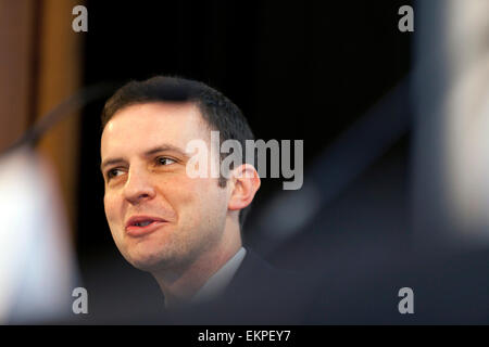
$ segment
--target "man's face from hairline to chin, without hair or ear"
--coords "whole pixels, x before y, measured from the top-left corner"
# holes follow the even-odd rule
[[[147,271],[184,267],[221,240],[229,189],[190,178],[187,143],[210,129],[191,103],[147,103],[118,111],[101,140],[104,206],[122,255]]]

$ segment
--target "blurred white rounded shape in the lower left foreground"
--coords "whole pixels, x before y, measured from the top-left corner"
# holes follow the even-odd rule
[[[68,228],[49,165],[20,149],[0,157],[0,323],[71,313],[77,280]]]

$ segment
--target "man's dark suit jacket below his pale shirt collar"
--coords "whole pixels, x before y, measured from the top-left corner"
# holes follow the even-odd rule
[[[225,292],[178,314],[176,322],[299,324],[305,314],[308,291],[299,274],[274,268],[248,248]]]

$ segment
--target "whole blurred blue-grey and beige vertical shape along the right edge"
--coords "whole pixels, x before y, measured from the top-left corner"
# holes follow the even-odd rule
[[[488,246],[489,2],[417,4],[416,229],[422,239],[438,230],[449,246]]]

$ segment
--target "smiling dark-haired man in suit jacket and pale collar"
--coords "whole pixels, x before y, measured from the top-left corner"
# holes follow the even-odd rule
[[[250,303],[269,291],[265,282],[276,272],[241,241],[260,188],[253,163],[231,166],[228,178],[215,177],[212,165],[223,157],[211,155],[209,163],[204,157],[197,164],[206,166],[208,175],[188,174],[198,155],[189,151],[192,141],[211,152],[211,131],[220,132],[220,141],[239,141],[242,149],[253,139],[233,102],[198,81],[154,77],[122,87],[104,106],[102,127],[104,207],[112,236],[128,262],[155,278],[167,308],[224,294],[234,304]],[[244,292],[255,295],[246,299]]]

